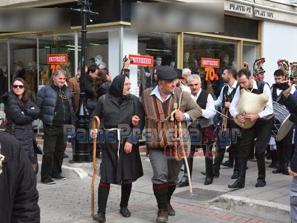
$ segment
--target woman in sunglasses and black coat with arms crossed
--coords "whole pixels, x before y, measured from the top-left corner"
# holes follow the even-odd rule
[[[32,122],[39,117],[40,109],[29,99],[27,83],[22,78],[15,78],[11,92],[2,96],[4,112],[7,118],[5,131],[20,141],[21,147],[31,161],[34,171],[37,168],[37,154],[34,150],[34,130]]]

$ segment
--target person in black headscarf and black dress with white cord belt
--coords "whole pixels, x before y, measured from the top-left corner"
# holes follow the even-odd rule
[[[143,176],[137,135],[142,134],[145,113],[138,97],[129,94],[130,89],[128,76],[116,76],[110,85],[109,93],[99,98],[93,113],[93,116],[100,118],[100,127],[104,126],[104,137],[100,135],[99,139],[102,148],[99,211],[93,217],[98,222],[105,222],[110,183],[122,185],[120,213],[124,217],[131,216],[127,206],[132,182]]]

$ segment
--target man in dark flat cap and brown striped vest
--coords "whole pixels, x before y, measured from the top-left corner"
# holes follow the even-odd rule
[[[143,103],[147,119],[147,147],[153,169],[151,181],[159,209],[156,222],[166,223],[168,215],[175,215],[170,199],[176,188],[182,165],[182,162],[173,156],[174,121],[170,121],[170,114],[174,111],[174,104],[178,104],[179,111],[175,114],[175,119],[182,122],[183,142],[187,152],[190,151],[190,136],[186,121],[195,120],[202,111],[196,103],[193,103],[188,92],[182,93],[181,88],[176,87],[178,75],[174,69],[169,66],[158,66],[156,73],[157,86],[144,90]]]

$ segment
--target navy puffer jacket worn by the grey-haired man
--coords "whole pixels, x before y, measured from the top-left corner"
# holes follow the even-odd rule
[[[58,98],[58,94],[55,88],[56,87],[53,85],[53,83],[51,83],[49,85],[44,86],[36,94],[35,103],[41,110],[40,119],[44,124],[52,125],[52,120],[55,115],[56,101]],[[71,114],[71,106],[72,106],[71,92],[65,85],[61,88],[61,90],[63,90],[67,96],[67,100],[68,100],[67,111],[69,112],[69,114]],[[71,118],[69,120],[69,123],[67,124],[71,124]]]

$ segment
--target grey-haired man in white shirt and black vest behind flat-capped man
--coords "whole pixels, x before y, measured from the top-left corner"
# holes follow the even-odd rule
[[[197,102],[202,109],[201,118],[196,119],[190,126],[189,132],[191,136],[191,152],[188,159],[190,168],[190,174],[193,170],[193,156],[196,152],[196,148],[203,149],[205,156],[205,170],[206,178],[204,185],[211,184],[213,181],[213,157],[212,146],[215,140],[213,117],[215,115],[214,102],[211,94],[201,89],[201,79],[199,75],[193,74],[188,77],[188,83],[191,88],[191,97]],[[188,174],[185,170],[185,174],[178,182],[177,186],[189,185]]]

